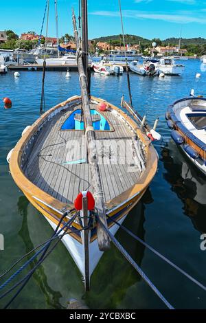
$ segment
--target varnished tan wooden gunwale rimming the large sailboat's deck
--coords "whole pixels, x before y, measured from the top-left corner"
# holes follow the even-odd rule
[[[16,146],[14,147],[14,151],[12,152],[12,156],[10,159],[10,172],[16,185],[23,191],[23,193],[27,197],[30,196],[30,201],[33,201],[34,199],[32,199],[32,197],[35,196],[36,198],[45,201],[45,203],[51,205],[52,208],[56,208],[57,210],[73,210],[73,204],[62,203],[61,201],[47,194],[46,192],[41,190],[41,188],[38,188],[38,186],[32,183],[32,181],[30,181],[30,179],[26,177],[25,173],[21,168],[21,158],[23,156],[25,146],[28,144],[28,142],[30,142],[30,140],[32,140],[32,136],[34,136],[41,129],[43,124],[45,124],[47,118],[49,118],[49,116],[52,115],[52,113],[56,114],[58,113],[58,110],[64,109],[67,104],[72,104],[74,102],[78,102],[79,100],[81,100],[80,96],[73,96],[68,100],[56,105],[55,107],[52,107],[52,109],[49,109],[40,118],[38,118],[36,122],[34,122],[34,124],[30,127],[30,129],[26,131],[26,133],[21,137],[19,142],[17,142]],[[106,102],[103,99],[91,97],[91,103],[93,101]],[[135,133],[137,133],[141,142],[144,143],[148,162],[144,174],[140,177],[137,183],[131,186],[128,190],[122,192],[122,194],[119,194],[119,196],[115,197],[111,201],[105,202],[106,209],[110,210],[112,208],[117,207],[117,205],[121,204],[123,201],[132,199],[132,197],[137,192],[141,193],[149,186],[150,182],[152,181],[153,177],[157,172],[158,155],[155,151],[155,148],[151,145],[151,142],[146,136],[146,134],[142,133],[141,130],[137,128],[136,122],[121,109],[115,107],[109,102],[106,103],[108,104],[108,107],[111,107],[111,109],[117,111],[117,113],[119,113],[122,116],[122,118],[124,118],[126,122],[134,129]],[[45,208],[45,205],[43,205],[43,208]],[[51,212],[52,209],[49,210]],[[54,210],[52,210],[52,212],[54,212],[56,216],[60,216],[58,212],[55,212]]]

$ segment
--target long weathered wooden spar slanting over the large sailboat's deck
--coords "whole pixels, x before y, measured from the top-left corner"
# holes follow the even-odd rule
[[[82,43],[84,42],[84,49],[87,51],[87,32],[85,32],[85,27],[87,28],[87,22],[85,23],[85,13],[87,12],[85,7],[87,6],[87,0],[82,0],[84,2],[84,5],[82,6],[82,12],[84,16],[82,16],[82,36],[84,36],[84,39],[82,37]],[[83,23],[84,19],[84,23]],[[78,28],[76,23],[76,16],[73,11],[73,30],[74,35],[76,38],[76,47],[78,49],[78,70],[80,74],[80,87],[81,87],[81,96],[82,96],[82,109],[84,111],[84,127],[85,127],[85,135],[87,139],[87,147],[88,147],[88,161],[89,161],[89,169],[91,172],[91,181],[92,186],[94,190],[95,197],[95,208],[98,213],[98,219],[100,222],[104,223],[104,225],[107,227],[107,221],[106,221],[106,212],[104,207],[104,197],[103,197],[103,188],[102,188],[102,181],[100,177],[100,168],[98,165],[98,153],[97,153],[97,147],[95,144],[95,130],[93,129],[93,122],[91,118],[91,110],[89,105],[89,95],[87,91],[87,74],[85,74],[85,66],[84,61],[85,58],[82,58],[82,51],[80,49],[80,41],[79,41],[79,35],[78,35]],[[110,239],[108,237],[108,234],[104,231],[102,228],[100,222],[97,223],[97,234],[98,234],[98,245],[100,251],[104,252],[107,249],[110,248]]]

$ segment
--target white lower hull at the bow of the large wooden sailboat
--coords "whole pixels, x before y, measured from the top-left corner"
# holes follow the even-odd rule
[[[122,224],[124,219],[126,219],[127,214],[119,221],[119,224]],[[47,217],[45,217],[47,219]],[[47,219],[49,224],[52,226],[54,230],[56,230],[56,225]],[[113,225],[111,227],[111,234],[115,235],[117,230],[119,229],[118,225]],[[85,278],[85,269],[84,269],[84,245],[76,241],[76,239],[72,238],[69,234],[65,235],[62,238],[62,243],[64,243],[65,247],[71,254],[74,262],[76,263],[80,273]],[[95,267],[98,265],[100,258],[103,256],[104,252],[100,252],[98,247],[98,240],[95,239],[92,243],[89,244],[89,274],[93,273]]]

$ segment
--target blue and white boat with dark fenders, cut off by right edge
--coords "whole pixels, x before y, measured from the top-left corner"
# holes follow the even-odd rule
[[[172,139],[193,164],[206,175],[206,99],[183,98],[165,115]]]

